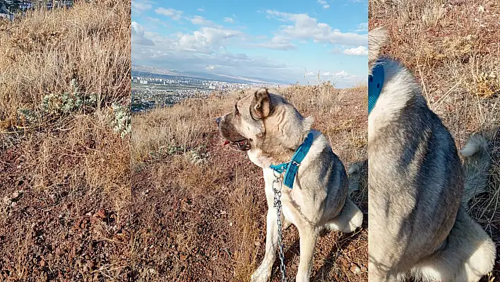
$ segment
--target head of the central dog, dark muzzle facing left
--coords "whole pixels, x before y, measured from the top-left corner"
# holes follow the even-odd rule
[[[281,95],[267,88],[252,91],[234,103],[232,112],[218,117],[220,135],[241,151],[259,148],[280,154],[295,150],[311,129],[313,119],[304,118]]]

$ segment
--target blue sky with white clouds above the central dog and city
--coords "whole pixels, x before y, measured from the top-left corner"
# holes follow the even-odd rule
[[[132,63],[348,87],[366,81],[367,17],[367,0],[132,0]]]

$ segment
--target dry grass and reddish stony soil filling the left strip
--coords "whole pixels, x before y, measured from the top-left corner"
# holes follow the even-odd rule
[[[0,280],[126,279],[130,28],[121,0],[0,20]]]

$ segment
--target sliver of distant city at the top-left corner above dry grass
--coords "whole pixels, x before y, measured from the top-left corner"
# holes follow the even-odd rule
[[[0,0],[0,18],[14,20],[16,16],[24,16],[26,11],[35,8],[69,8],[73,6],[73,0]]]

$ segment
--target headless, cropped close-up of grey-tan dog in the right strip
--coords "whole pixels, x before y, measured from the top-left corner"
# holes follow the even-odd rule
[[[369,71],[381,65],[384,77],[368,117],[369,281],[479,281],[495,245],[460,202],[486,185],[488,143],[469,139],[464,169],[414,76],[380,56],[387,38],[384,28],[369,32]]]

